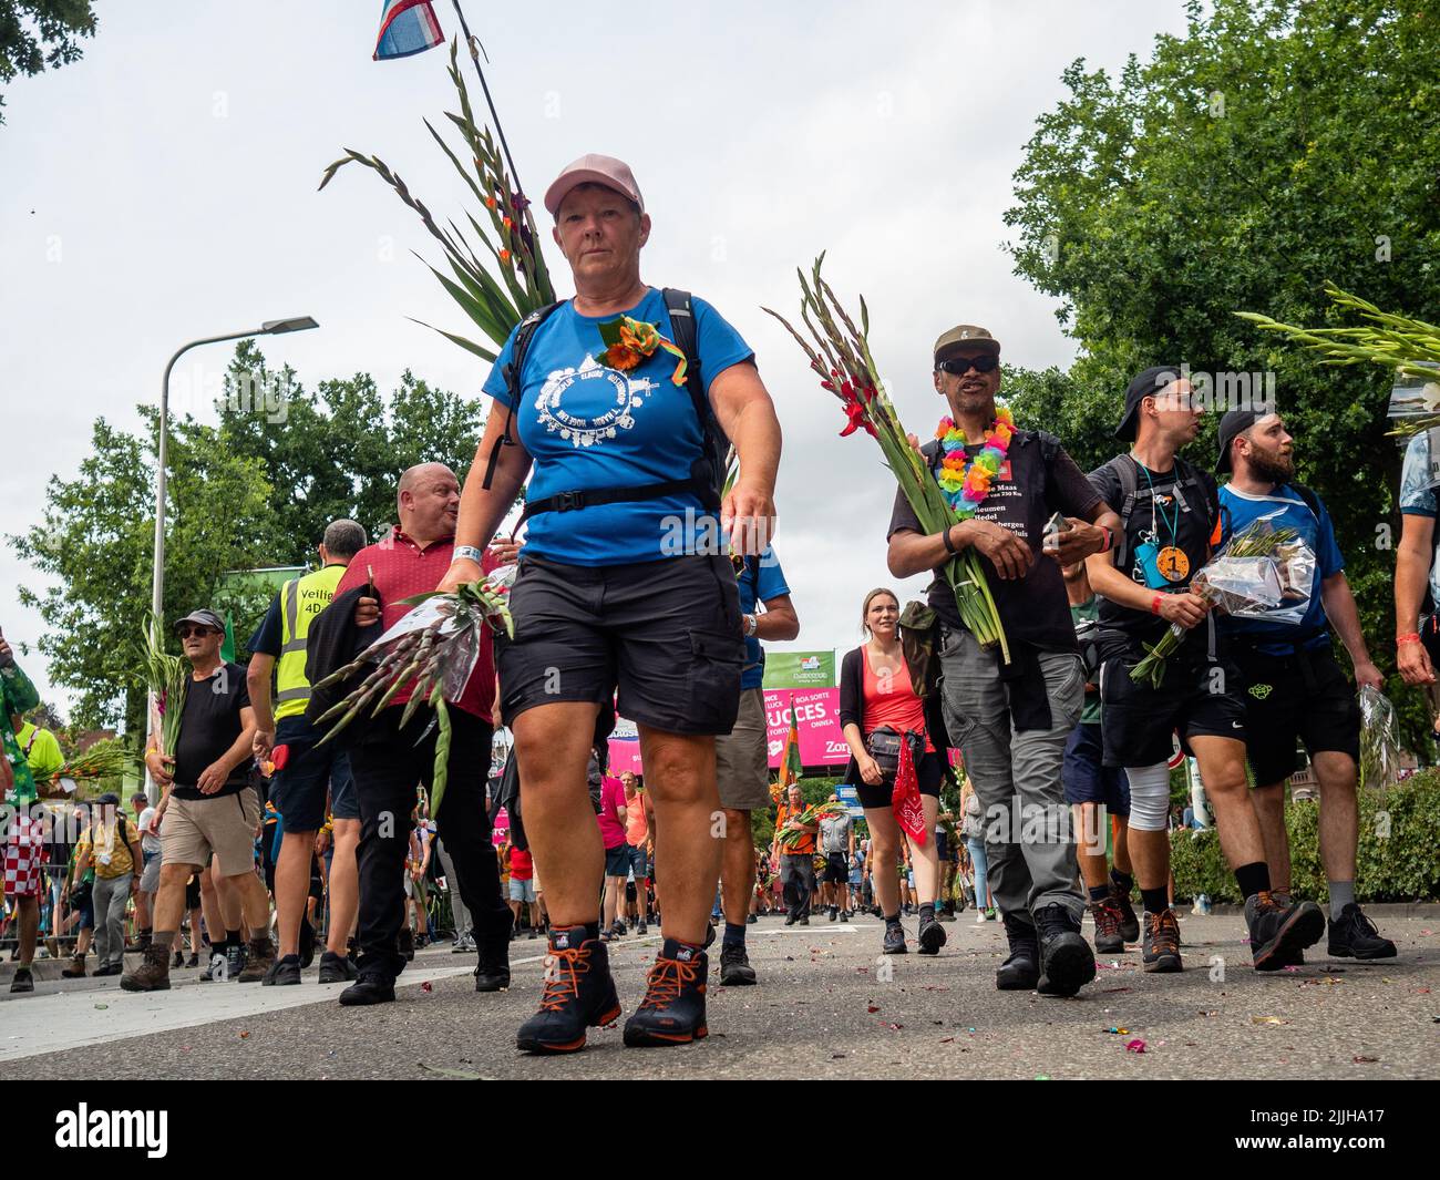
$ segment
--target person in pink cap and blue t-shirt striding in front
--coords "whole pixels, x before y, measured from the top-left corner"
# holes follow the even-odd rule
[[[780,428],[753,350],[720,313],[641,281],[651,219],[629,166],[585,156],[544,205],[576,294],[517,327],[485,382],[497,405],[439,588],[480,576],[480,547],[533,470],[514,638],[497,643],[497,664],[553,967],[517,1043],[575,1052],[621,1013],[599,938],[603,847],[585,774],[618,696],[639,728],[665,893],[664,941],[625,1043],[684,1045],[707,1034],[716,736],[736,723],[755,631],[730,553],[766,547]],[[740,461],[724,494],[721,439]]]

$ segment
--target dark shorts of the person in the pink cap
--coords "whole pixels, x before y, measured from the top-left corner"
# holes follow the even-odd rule
[[[579,566],[521,555],[510,612],[514,638],[495,641],[508,723],[562,700],[603,715],[619,690],[621,715],[652,729],[734,728],[744,638],[729,558]]]

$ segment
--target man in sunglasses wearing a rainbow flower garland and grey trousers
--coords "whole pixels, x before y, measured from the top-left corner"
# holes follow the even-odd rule
[[[935,390],[949,416],[922,448],[932,471],[946,458],[960,458],[969,470],[996,425],[999,380],[999,341],[985,328],[959,324],[935,341]],[[1056,513],[1064,529],[1047,527]],[[890,572],[936,573],[929,602],[940,617],[945,725],[985,808],[991,892],[1011,951],[995,984],[1007,991],[1038,987],[1045,996],[1074,996],[1094,978],[1094,954],[1080,935],[1084,899],[1076,889],[1061,791],[1086,676],[1060,571],[1109,547],[1119,523],[1060,439],[1031,429],[1015,429],[969,519],[926,535],[903,493],[890,517]],[[981,555],[1009,664],[965,630],[943,576],[968,546]]]

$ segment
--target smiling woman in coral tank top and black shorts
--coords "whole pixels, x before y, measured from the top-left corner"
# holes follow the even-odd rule
[[[884,952],[906,952],[904,928],[900,925],[899,879],[893,870],[901,854],[901,839],[909,841],[914,866],[914,886],[920,903],[920,954],[939,954],[945,928],[935,918],[940,888],[940,862],[935,840],[916,843],[903,833],[891,810],[894,774],[884,774],[870,755],[870,736],[881,726],[899,733],[926,733],[924,755],[916,761],[916,778],[924,808],[924,828],[935,831],[940,810],[943,762],[930,743],[924,723],[924,700],[916,696],[900,647],[900,599],[888,589],[873,589],[861,608],[861,628],[868,641],[845,654],[840,667],[840,723],[850,745],[845,782],[855,785],[873,840],[876,902],[886,919]]]

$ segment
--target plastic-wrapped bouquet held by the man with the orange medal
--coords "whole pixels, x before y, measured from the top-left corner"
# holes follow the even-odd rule
[[[1189,592],[1234,618],[1299,622],[1310,604],[1315,553],[1295,529],[1276,529],[1263,516],[1227,540],[1189,581]],[[1185,630],[1172,622],[1161,641],[1145,644],[1145,658],[1130,679],[1159,687],[1165,661],[1179,648]]]

